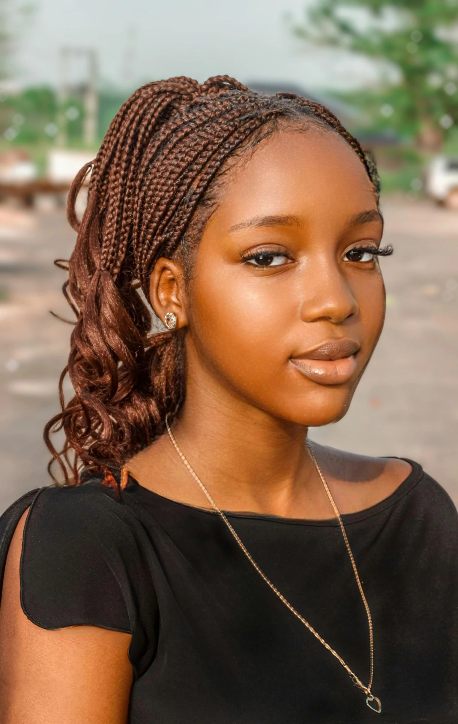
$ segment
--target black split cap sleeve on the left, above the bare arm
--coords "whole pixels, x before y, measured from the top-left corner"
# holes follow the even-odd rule
[[[140,522],[100,482],[43,488],[25,522],[22,610],[41,628],[132,633],[129,656],[139,675],[152,660],[157,623],[144,544]]]

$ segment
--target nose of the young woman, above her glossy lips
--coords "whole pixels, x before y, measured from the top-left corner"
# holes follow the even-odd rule
[[[326,320],[342,324],[359,311],[349,280],[342,274],[335,258],[309,260],[302,289],[303,321]]]

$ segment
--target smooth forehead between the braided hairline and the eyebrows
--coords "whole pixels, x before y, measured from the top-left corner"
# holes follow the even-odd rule
[[[248,151],[232,169],[219,194],[214,222],[235,224],[255,215],[348,218],[376,209],[365,167],[335,132],[276,132]]]

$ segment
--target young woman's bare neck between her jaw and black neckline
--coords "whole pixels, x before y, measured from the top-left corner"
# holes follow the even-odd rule
[[[289,515],[316,484],[307,428],[214,387],[188,384],[173,426],[180,449],[221,508]]]

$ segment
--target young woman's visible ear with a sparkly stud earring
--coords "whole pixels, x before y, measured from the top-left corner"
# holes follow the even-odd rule
[[[150,276],[150,302],[164,324],[166,313],[173,312],[177,329],[186,327],[185,280],[180,264],[162,256],[156,261]]]

